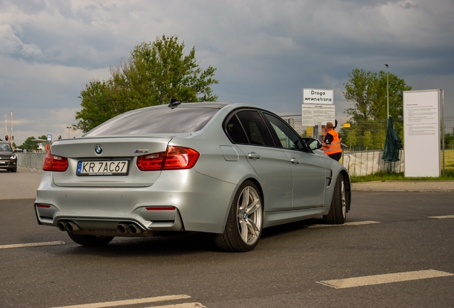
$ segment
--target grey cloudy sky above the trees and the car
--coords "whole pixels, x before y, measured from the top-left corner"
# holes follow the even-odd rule
[[[343,121],[348,73],[388,63],[454,116],[453,16],[453,0],[0,0],[0,119],[17,145],[81,135],[66,127],[85,84],[163,34],[217,68],[219,101],[301,114],[303,88],[328,88]]]

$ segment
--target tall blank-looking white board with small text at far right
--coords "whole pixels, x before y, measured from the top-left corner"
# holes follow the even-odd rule
[[[440,91],[403,92],[405,177],[440,176]]]

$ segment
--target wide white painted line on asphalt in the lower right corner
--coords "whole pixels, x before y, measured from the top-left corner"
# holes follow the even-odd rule
[[[353,277],[345,279],[334,279],[317,282],[334,289],[345,289],[350,287],[362,287],[371,284],[385,284],[390,282],[404,282],[410,280],[427,279],[435,277],[454,276],[448,272],[438,270],[422,270],[415,272],[400,272],[395,274],[379,274],[373,276]]]

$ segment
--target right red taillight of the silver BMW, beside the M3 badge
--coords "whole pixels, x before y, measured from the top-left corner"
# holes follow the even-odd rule
[[[138,156],[136,164],[141,171],[190,169],[199,157],[191,148],[168,146],[166,152]]]

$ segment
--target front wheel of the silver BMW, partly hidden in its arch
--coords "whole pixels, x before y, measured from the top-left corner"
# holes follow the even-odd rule
[[[343,175],[339,173],[334,187],[333,200],[331,201],[330,212],[323,215],[323,222],[328,225],[342,225],[347,217],[347,198]]]

